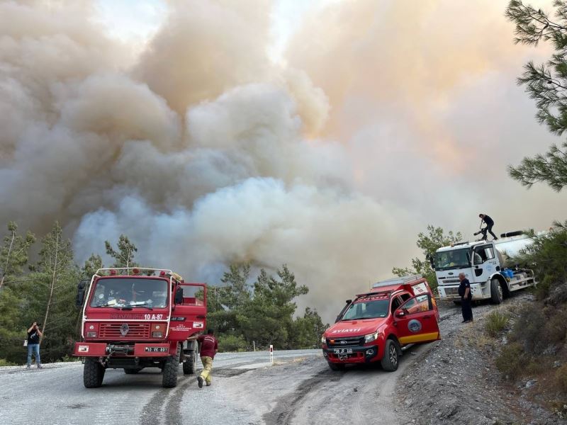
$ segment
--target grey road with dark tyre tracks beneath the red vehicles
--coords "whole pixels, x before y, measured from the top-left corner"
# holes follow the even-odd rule
[[[460,324],[460,309],[440,312],[444,336]],[[91,390],[83,387],[81,363],[0,368],[0,424],[317,425],[378,417],[406,424],[408,409],[395,398],[405,385],[400,378],[431,348],[410,347],[394,373],[376,366],[332,372],[320,350],[276,351],[274,365],[266,352],[220,353],[213,385],[203,389],[181,368],[173,389],[162,388],[159,370],[148,368],[137,375],[107,370],[103,386]]]

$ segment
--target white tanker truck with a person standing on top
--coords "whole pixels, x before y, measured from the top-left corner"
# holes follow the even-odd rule
[[[515,256],[533,239],[523,232],[509,232],[495,241],[461,242],[437,249],[431,259],[439,297],[459,302],[459,273],[471,283],[473,300],[500,304],[512,291],[537,285],[529,268],[506,268],[505,256]]]

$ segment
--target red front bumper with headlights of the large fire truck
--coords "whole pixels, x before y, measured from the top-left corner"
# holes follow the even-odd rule
[[[137,342],[131,344],[108,344],[106,342],[76,342],[73,356],[106,357],[166,357],[169,356],[169,344]]]

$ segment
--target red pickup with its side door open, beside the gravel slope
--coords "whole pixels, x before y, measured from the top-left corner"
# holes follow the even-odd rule
[[[439,312],[421,276],[384,280],[371,292],[347,300],[337,321],[322,335],[322,351],[332,370],[349,363],[381,362],[396,370],[402,348],[439,339]]]

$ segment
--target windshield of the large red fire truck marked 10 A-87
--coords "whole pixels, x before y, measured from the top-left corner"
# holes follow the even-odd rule
[[[103,278],[95,285],[91,307],[167,307],[167,280]]]

